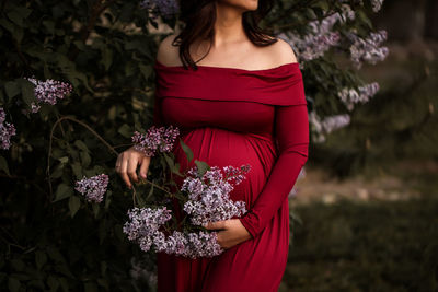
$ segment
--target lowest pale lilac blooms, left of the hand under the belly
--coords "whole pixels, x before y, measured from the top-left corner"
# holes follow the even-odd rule
[[[216,232],[173,231],[171,235],[165,236],[159,229],[172,218],[171,210],[166,207],[158,209],[136,207],[128,211],[128,215],[130,221],[125,223],[123,232],[130,241],[138,243],[143,252],[153,246],[155,252],[191,258],[212,257],[223,252],[217,242]]]

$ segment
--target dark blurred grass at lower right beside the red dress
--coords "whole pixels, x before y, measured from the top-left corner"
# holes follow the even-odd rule
[[[438,199],[295,209],[279,291],[438,291]]]

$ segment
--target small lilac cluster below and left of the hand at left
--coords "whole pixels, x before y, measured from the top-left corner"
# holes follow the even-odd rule
[[[107,186],[108,175],[101,174],[90,178],[84,176],[81,180],[76,182],[74,189],[85,196],[89,202],[101,202]]]

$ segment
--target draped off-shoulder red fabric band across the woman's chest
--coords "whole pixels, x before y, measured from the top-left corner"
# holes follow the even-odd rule
[[[249,70],[198,65],[165,66],[155,60],[157,95],[160,98],[253,102],[266,105],[306,104],[302,73],[298,62]]]

